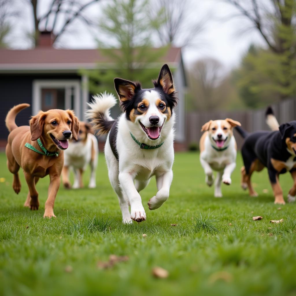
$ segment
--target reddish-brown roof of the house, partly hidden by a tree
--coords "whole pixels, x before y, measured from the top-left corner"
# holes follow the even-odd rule
[[[157,49],[152,49],[157,50]],[[159,61],[174,64],[181,59],[181,49],[171,47]],[[94,68],[97,63],[110,64],[110,58],[97,49],[0,50],[0,70],[79,69]]]

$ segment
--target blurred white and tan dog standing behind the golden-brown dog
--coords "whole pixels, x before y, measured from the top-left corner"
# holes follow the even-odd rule
[[[89,188],[96,187],[96,167],[98,164],[98,140],[93,135],[89,123],[80,121],[78,139],[69,142],[67,153],[64,154],[64,167],[62,170],[62,181],[65,188],[70,188],[69,169],[74,170],[73,188],[83,187],[83,172],[90,165],[91,176],[89,179]],[[66,150],[65,150],[66,151]]]

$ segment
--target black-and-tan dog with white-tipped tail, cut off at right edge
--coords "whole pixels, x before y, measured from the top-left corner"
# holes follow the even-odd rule
[[[296,195],[296,121],[278,126],[271,108],[268,108],[266,116],[269,127],[273,130],[278,127],[278,130],[247,133],[241,127],[235,127],[245,139],[242,147],[242,188],[248,188],[251,196],[257,196],[251,185],[251,175],[266,167],[274,192],[274,203],[285,204],[279,175],[289,171],[294,185],[289,191],[288,202],[293,202]]]

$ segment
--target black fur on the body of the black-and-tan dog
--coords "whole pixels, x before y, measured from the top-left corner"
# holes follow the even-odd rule
[[[284,123],[279,127],[279,131],[256,131],[247,133],[242,128],[236,127],[237,131],[243,136],[246,134],[242,146],[242,158],[246,173],[249,174],[250,167],[256,159],[267,167],[268,176],[271,183],[276,183],[276,176],[286,173],[286,169],[277,172],[271,163],[271,159],[286,162],[291,154],[287,151],[286,139],[296,143],[296,121]],[[296,157],[295,157],[296,159]],[[293,170],[293,169],[292,169]]]

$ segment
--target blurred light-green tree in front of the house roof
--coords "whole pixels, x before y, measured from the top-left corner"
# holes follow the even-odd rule
[[[113,0],[104,8],[99,22],[99,50],[112,66],[100,64],[98,70],[82,71],[89,76],[92,93],[114,92],[115,77],[152,86],[151,78],[157,77],[159,59],[167,47],[152,48],[154,21],[148,17],[148,10],[148,0]],[[151,66],[153,63],[155,66]]]

